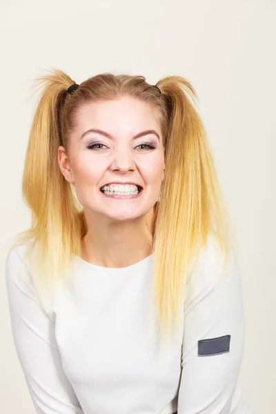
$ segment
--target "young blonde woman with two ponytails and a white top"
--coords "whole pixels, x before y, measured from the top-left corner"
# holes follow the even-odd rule
[[[78,85],[61,70],[37,81],[32,225],[6,259],[37,413],[250,413],[242,280],[193,86],[111,73]]]

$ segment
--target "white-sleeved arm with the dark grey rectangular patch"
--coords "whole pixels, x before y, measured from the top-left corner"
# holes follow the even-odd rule
[[[244,351],[244,308],[232,249],[224,276],[222,270],[218,246],[209,240],[187,290],[178,414],[233,412]]]

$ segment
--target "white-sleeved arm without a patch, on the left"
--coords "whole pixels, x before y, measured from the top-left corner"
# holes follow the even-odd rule
[[[21,249],[8,254],[5,275],[14,345],[32,402],[38,414],[83,414],[63,372],[55,322],[37,305],[31,279],[23,280]]]

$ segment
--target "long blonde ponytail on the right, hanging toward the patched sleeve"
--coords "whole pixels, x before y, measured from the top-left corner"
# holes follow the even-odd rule
[[[195,107],[193,86],[180,76],[157,82],[169,113],[166,169],[155,223],[154,286],[157,317],[168,337],[181,327],[186,286],[196,257],[211,238],[219,242],[224,270],[235,244],[208,138]]]

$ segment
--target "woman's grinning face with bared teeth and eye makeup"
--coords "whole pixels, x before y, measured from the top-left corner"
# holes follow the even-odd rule
[[[161,128],[152,106],[132,97],[86,103],[77,112],[68,154],[59,147],[58,161],[89,214],[112,221],[146,215],[158,199],[165,168]],[[101,192],[108,183],[128,181],[141,186],[141,193],[110,197]]]

